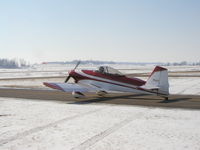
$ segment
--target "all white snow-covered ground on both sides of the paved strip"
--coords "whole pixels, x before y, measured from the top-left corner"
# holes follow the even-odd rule
[[[150,73],[154,68],[111,66],[128,74]],[[44,81],[63,82],[73,67],[0,69],[0,87],[44,89]],[[81,65],[79,69],[96,67]],[[199,68],[167,68],[186,75],[169,78],[170,93],[200,94]],[[199,150],[199,116],[199,110],[0,98],[0,150]]]

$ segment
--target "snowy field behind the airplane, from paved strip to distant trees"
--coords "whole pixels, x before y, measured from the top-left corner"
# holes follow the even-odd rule
[[[124,74],[147,80],[154,65],[109,65]],[[78,69],[95,69],[95,65],[80,65]],[[64,82],[74,65],[35,65],[25,69],[0,69],[0,87],[45,89],[43,82]],[[200,95],[200,67],[168,66],[171,94]],[[146,76],[143,76],[146,75]]]

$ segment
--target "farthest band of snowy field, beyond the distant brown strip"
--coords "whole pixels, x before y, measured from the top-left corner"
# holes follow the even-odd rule
[[[0,69],[0,79],[26,77],[65,76],[75,65],[41,64],[24,69]],[[119,69],[124,74],[151,73],[155,65],[108,65]],[[96,69],[99,65],[80,65],[78,69]],[[200,67],[197,66],[166,66],[169,72],[186,72],[185,75],[200,76]],[[187,73],[189,72],[189,74]]]

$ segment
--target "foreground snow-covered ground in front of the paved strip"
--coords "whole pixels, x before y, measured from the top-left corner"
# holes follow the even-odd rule
[[[1,150],[199,150],[200,111],[0,98]]]

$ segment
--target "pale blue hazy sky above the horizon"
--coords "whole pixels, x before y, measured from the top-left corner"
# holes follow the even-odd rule
[[[200,61],[200,1],[2,0],[0,58]]]

